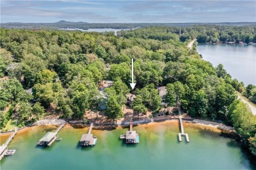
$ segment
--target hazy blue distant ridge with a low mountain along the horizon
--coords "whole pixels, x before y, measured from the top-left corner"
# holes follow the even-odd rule
[[[170,26],[170,27],[188,27],[190,25],[256,25],[256,22],[221,22],[221,23],[88,23],[88,22],[67,22],[60,20],[55,23],[21,23],[21,22],[9,22],[2,23],[0,27],[10,29],[35,29],[35,28],[114,28],[114,29],[133,29],[136,27],[148,27],[148,26]]]

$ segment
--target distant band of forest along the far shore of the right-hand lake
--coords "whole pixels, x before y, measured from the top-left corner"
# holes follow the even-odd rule
[[[190,25],[188,27],[147,27],[133,31],[122,30],[122,37],[139,37],[164,41],[171,39],[171,33],[179,35],[182,42],[197,39],[198,43],[256,43],[256,25],[226,26],[226,25]]]

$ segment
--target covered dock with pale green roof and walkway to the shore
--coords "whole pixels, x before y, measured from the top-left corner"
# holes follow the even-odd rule
[[[39,146],[43,146],[45,145],[45,143],[47,144],[47,146],[51,146],[51,144],[54,143],[54,141],[56,141],[56,139],[58,139],[58,132],[60,131],[60,129],[62,129],[62,127],[64,127],[66,123],[61,124],[58,129],[56,129],[56,131],[54,132],[47,132],[40,140],[39,143],[37,143],[37,145]]]

